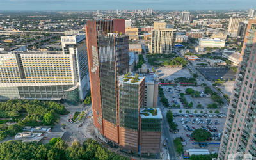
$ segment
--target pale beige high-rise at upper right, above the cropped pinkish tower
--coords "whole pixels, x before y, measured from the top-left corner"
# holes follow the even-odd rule
[[[246,20],[246,17],[230,17],[228,24],[228,33],[230,33],[232,37],[237,36],[239,23],[244,22],[244,20]]]

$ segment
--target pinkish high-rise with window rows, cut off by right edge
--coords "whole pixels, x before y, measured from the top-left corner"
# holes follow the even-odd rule
[[[218,159],[241,152],[256,159],[256,19],[250,19],[237,69],[234,90],[220,144]],[[240,157],[243,159],[243,157]]]

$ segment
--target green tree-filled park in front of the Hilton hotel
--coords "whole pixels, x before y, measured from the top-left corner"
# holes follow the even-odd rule
[[[24,126],[53,126],[67,109],[58,102],[40,100],[8,100],[0,103],[0,140],[23,132]]]

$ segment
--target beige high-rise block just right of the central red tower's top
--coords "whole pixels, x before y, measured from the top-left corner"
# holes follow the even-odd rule
[[[165,23],[154,22],[151,44],[148,45],[150,53],[170,54],[173,52],[176,30],[166,28],[166,26],[168,25]]]

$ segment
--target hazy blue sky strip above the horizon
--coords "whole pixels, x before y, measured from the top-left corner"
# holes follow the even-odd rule
[[[256,0],[0,0],[0,10],[246,10]]]

